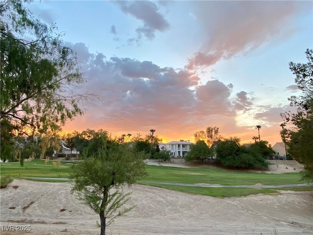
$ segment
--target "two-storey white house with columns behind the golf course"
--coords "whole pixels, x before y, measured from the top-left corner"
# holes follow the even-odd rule
[[[190,141],[171,141],[168,143],[160,143],[159,148],[164,147],[166,150],[171,151],[172,158],[184,158],[190,151]]]

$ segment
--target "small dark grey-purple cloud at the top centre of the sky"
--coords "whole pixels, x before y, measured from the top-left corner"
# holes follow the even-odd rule
[[[156,31],[164,32],[170,26],[159,12],[156,3],[152,1],[116,1],[115,3],[120,6],[125,14],[130,14],[143,22],[143,25],[135,30],[137,41],[142,37],[153,40]]]

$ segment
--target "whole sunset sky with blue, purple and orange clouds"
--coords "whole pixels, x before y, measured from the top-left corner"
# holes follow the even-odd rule
[[[163,142],[207,126],[224,137],[281,142],[280,113],[300,94],[289,62],[313,47],[313,1],[35,1],[56,23],[98,95],[65,132],[150,129]]]

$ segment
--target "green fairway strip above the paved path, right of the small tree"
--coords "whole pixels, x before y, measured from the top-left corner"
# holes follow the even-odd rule
[[[269,174],[230,171],[217,168],[178,168],[147,165],[149,176],[140,181],[220,185],[291,185],[302,184],[299,173]]]

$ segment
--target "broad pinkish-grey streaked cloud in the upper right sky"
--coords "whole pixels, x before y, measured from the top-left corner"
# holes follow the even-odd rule
[[[273,37],[287,37],[296,28],[293,17],[312,8],[310,2],[295,1],[197,1],[192,6],[205,38],[189,58],[193,69],[246,54]]]

